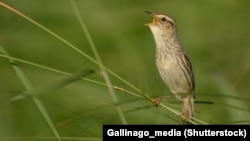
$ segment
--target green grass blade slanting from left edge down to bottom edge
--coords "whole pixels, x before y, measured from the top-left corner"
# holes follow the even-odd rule
[[[0,46],[0,52],[7,55],[8,53],[5,51],[5,49],[3,47]],[[14,60],[10,59],[10,63],[12,64],[15,72],[17,73],[18,78],[20,79],[20,81],[22,82],[22,84],[24,85],[24,87],[27,90],[31,90],[33,89],[33,86],[31,84],[31,82],[29,81],[29,79],[26,77],[26,75],[24,74],[24,72],[20,69],[20,67],[16,64],[16,62]],[[61,141],[61,137],[59,135],[59,133],[57,132],[53,122],[51,121],[42,101],[39,99],[38,96],[31,96],[32,100],[34,101],[35,105],[37,106],[37,108],[40,110],[40,112],[42,113],[43,117],[45,118],[45,120],[47,121],[48,125],[50,126],[51,130],[53,131],[55,137],[57,138],[57,140]]]

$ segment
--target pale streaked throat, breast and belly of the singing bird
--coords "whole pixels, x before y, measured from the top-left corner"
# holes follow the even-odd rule
[[[190,63],[177,38],[168,38],[157,26],[150,26],[156,42],[156,65],[160,76],[178,99],[192,95]],[[160,37],[160,38],[159,38]],[[180,65],[182,64],[182,65]],[[191,65],[191,63],[190,63]]]

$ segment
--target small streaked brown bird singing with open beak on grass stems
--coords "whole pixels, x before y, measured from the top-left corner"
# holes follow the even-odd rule
[[[153,19],[145,26],[150,28],[155,41],[157,69],[171,93],[182,101],[181,118],[188,124],[190,117],[194,117],[195,80],[191,62],[177,38],[176,21],[168,15],[145,12]]]

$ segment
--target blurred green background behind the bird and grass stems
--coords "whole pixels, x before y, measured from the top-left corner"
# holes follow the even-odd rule
[[[5,4],[52,30],[94,58],[69,0],[4,0]],[[175,18],[178,37],[195,73],[196,118],[208,124],[250,123],[250,9],[248,1],[76,0],[104,65],[163,103],[181,104],[161,80],[155,44],[145,10]],[[0,45],[10,56],[74,73],[99,66],[17,14],[0,7]],[[17,62],[18,63],[18,62]],[[18,63],[34,87],[65,75]],[[0,137],[54,136],[30,98],[10,101],[25,91],[9,60],[0,57]],[[113,85],[130,87],[109,75]],[[104,82],[99,73],[89,79]],[[115,91],[128,124],[181,124],[177,115],[148,100]],[[65,137],[101,137],[102,124],[122,124],[106,87],[79,80],[40,96]],[[2,138],[6,139],[6,138]],[[10,138],[9,138],[10,140]],[[17,140],[17,139],[14,139]],[[21,139],[20,139],[21,140]]]

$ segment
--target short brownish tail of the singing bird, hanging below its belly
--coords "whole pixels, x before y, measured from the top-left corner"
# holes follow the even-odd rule
[[[194,116],[194,96],[188,95],[187,97],[182,99],[183,107],[182,112],[184,117],[186,118],[184,122],[187,122],[189,117]]]

